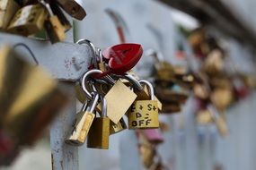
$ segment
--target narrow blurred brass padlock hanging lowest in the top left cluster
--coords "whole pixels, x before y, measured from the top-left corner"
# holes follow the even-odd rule
[[[52,12],[48,3],[44,0],[40,0],[40,4],[45,6],[49,13],[49,18],[45,21],[44,28],[47,31],[50,42],[54,44],[63,41],[66,38],[64,26],[58,20],[57,15]]]

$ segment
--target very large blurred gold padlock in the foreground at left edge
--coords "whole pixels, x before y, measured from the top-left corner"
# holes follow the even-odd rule
[[[0,114],[0,124],[13,140],[32,144],[64,106],[67,97],[57,81],[39,67],[24,62],[10,47],[3,50],[0,50],[0,109],[4,114]]]

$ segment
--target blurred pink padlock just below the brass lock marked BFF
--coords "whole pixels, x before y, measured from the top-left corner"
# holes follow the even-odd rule
[[[160,129],[146,129],[146,130],[139,130],[138,132],[142,133],[152,144],[160,144],[163,143],[163,134]]]

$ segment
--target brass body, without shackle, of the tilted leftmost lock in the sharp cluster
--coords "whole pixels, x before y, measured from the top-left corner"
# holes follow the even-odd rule
[[[88,132],[93,124],[95,115],[91,112],[79,112],[75,115],[75,123],[71,135],[66,139],[70,145],[80,146],[84,144]]]

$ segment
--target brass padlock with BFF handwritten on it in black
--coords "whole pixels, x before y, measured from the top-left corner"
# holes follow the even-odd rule
[[[128,111],[129,129],[154,129],[159,127],[158,106],[154,100],[154,88],[148,81],[139,81],[146,84],[150,90],[151,100],[136,100]]]

